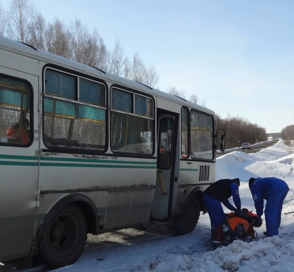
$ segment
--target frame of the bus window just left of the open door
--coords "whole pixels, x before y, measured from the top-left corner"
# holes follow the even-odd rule
[[[147,116],[143,116],[143,115],[139,115],[139,114],[134,114],[134,113],[129,113],[129,112],[125,112],[125,111],[121,111],[121,110],[112,110],[111,109],[111,90],[115,88],[115,89],[119,89],[121,91],[124,91],[124,92],[129,92],[129,93],[133,93],[133,112],[135,111],[135,94],[137,95],[141,95],[143,97],[147,97],[147,98],[151,98],[152,99],[152,103],[153,103],[153,111],[152,111],[152,114],[153,114],[153,117],[147,117]],[[110,150],[113,154],[115,155],[119,155],[119,156],[131,156],[131,157],[136,157],[136,158],[152,158],[154,157],[154,154],[155,154],[155,146],[157,146],[157,144],[155,143],[155,134],[156,134],[156,119],[154,118],[154,116],[156,116],[156,112],[155,112],[155,109],[156,109],[156,105],[155,105],[155,99],[152,95],[149,95],[148,93],[144,93],[142,91],[138,91],[138,90],[135,90],[135,89],[131,89],[131,88],[128,88],[128,87],[124,87],[122,85],[119,85],[119,84],[112,84],[110,86],[110,92],[109,92],[109,116],[110,116],[110,120],[109,120],[109,146],[110,146]],[[152,153],[151,154],[142,154],[142,153],[129,153],[129,152],[117,152],[117,151],[113,151],[112,148],[111,148],[111,111],[113,112],[118,112],[118,113],[122,113],[122,114],[129,114],[129,115],[132,115],[132,116],[136,116],[136,117],[140,117],[140,118],[145,118],[145,119],[149,119],[149,120],[152,120],[153,124],[152,124],[152,129],[153,129],[153,135],[152,135],[152,141],[153,141],[153,146],[152,146]],[[155,156],[156,158],[156,156]]]

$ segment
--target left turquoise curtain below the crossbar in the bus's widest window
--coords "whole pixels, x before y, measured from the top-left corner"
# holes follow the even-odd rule
[[[55,103],[55,114],[59,117],[75,118],[75,104],[57,99],[44,98],[44,113],[53,114]]]

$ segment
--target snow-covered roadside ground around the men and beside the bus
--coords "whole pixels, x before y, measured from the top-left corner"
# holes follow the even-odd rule
[[[213,250],[210,220],[205,214],[190,234],[87,251],[74,265],[56,271],[294,271],[294,154],[289,155],[288,147],[279,141],[257,153],[234,151],[223,155],[216,165],[217,179],[240,178],[242,207],[254,212],[248,188],[250,177],[275,176],[288,183],[290,191],[283,205],[280,237],[265,238],[263,224],[256,229],[257,241],[234,241],[228,247]]]

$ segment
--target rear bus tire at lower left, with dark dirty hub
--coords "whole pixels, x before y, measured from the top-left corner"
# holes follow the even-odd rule
[[[49,215],[39,243],[41,261],[52,268],[73,264],[87,240],[87,224],[81,209],[67,204]]]

